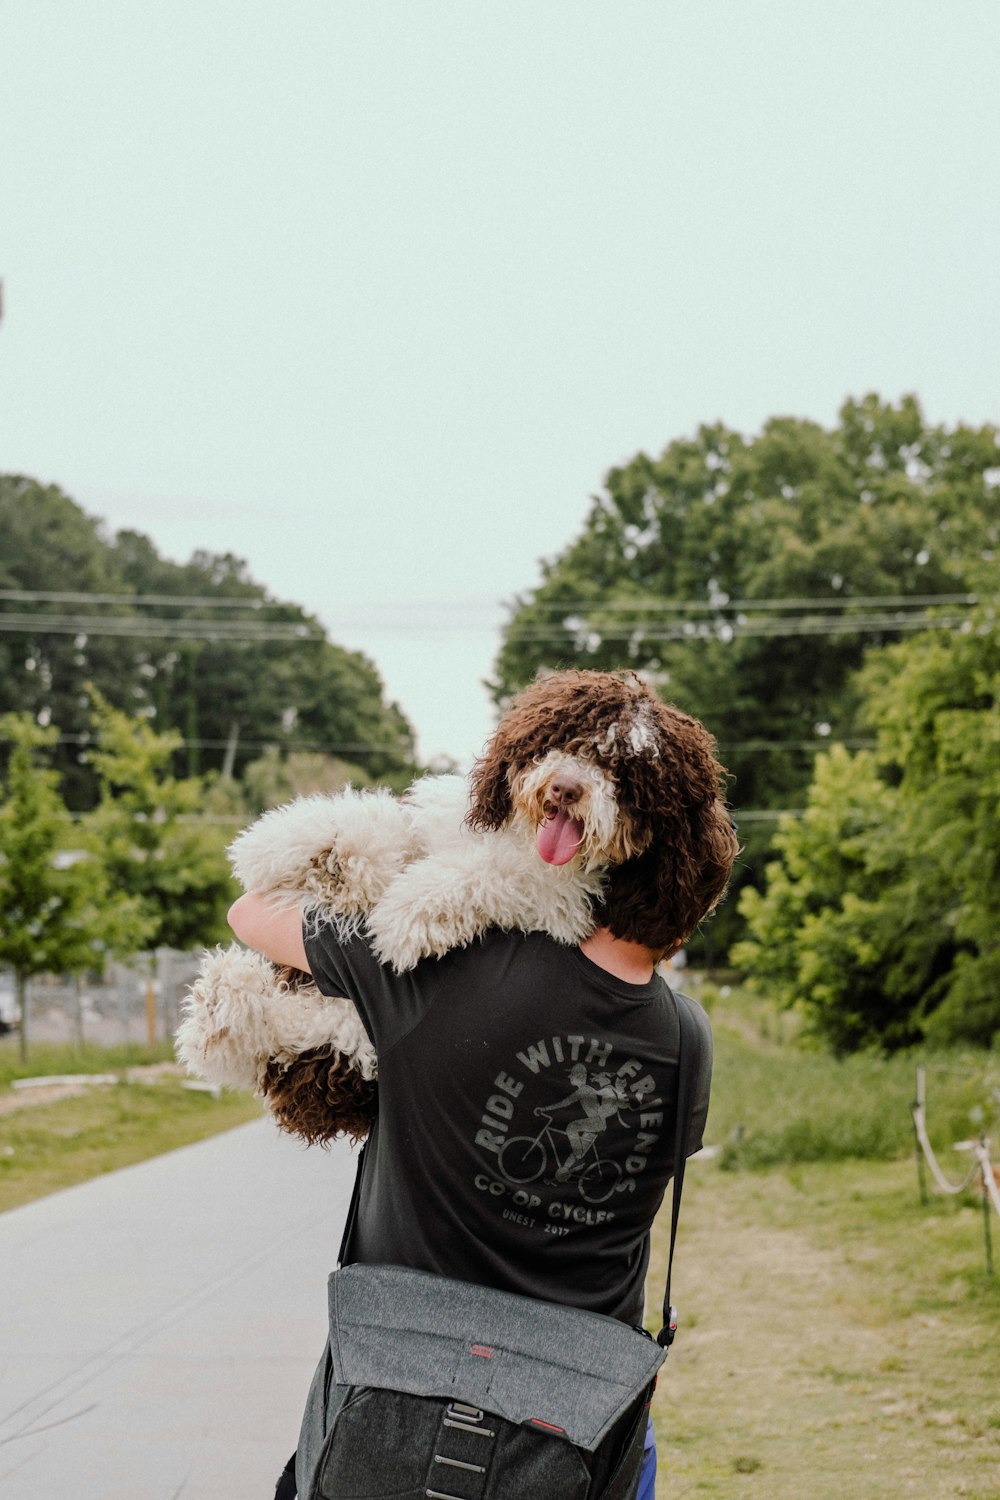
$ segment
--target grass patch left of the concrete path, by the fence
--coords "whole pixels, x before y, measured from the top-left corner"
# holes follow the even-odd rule
[[[82,1053],[39,1046],[25,1066],[16,1056],[16,1041],[3,1038],[0,1212],[259,1118],[259,1101],[246,1094],[214,1100],[184,1089],[181,1077],[162,1066],[169,1058],[169,1044]],[[135,1077],[132,1070],[139,1070],[142,1082],[124,1082],[126,1071]],[[121,1082],[42,1104],[24,1102],[25,1090],[16,1096],[18,1107],[10,1108],[13,1078],[76,1072],[118,1072]]]

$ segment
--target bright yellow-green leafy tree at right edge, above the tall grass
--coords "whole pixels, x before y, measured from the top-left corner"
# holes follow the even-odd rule
[[[1000,630],[874,652],[858,678],[874,753],[822,756],[783,820],[733,951],[838,1052],[1000,1030]]]

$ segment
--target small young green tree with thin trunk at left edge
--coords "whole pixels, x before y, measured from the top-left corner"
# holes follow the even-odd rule
[[[76,837],[58,774],[40,765],[57,730],[6,714],[0,732],[12,746],[0,802],[0,963],[13,970],[25,1058],[27,981],[100,968],[109,951],[141,940],[144,924],[135,902],[108,890]]]

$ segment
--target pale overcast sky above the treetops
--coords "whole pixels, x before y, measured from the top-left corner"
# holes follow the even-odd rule
[[[424,756],[610,465],[1000,422],[996,0],[0,0],[0,470],[244,556]]]

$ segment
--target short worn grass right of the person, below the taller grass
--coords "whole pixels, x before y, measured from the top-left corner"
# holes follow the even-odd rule
[[[922,1206],[909,1161],[696,1161],[673,1296],[660,1494],[1000,1496],[1000,1284],[975,1200]]]

